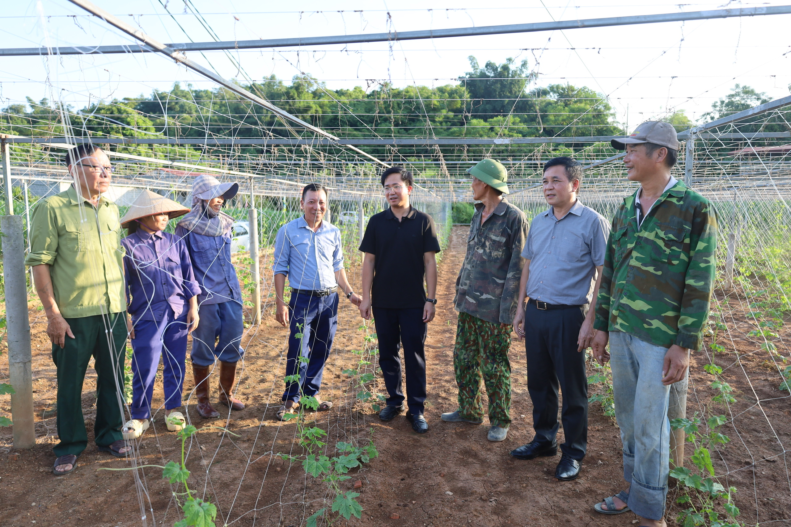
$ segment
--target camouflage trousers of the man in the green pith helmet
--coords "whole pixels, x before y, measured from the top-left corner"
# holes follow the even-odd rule
[[[507,428],[511,423],[511,326],[486,322],[460,313],[453,348],[453,370],[459,385],[459,409],[464,419],[483,419],[481,377],[489,397],[489,423]]]

